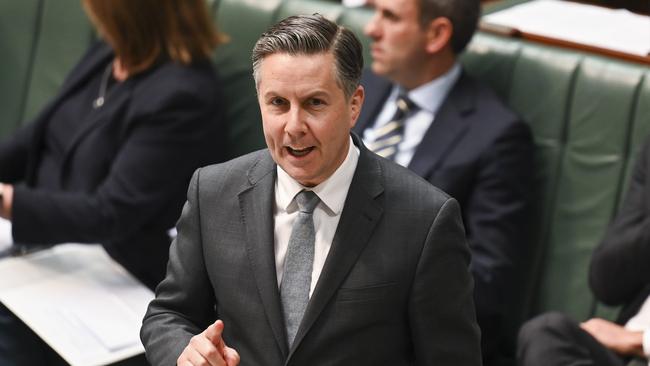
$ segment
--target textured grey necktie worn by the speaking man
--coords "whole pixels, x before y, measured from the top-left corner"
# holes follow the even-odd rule
[[[295,198],[300,212],[293,223],[289,247],[284,259],[284,271],[280,284],[280,297],[287,341],[293,344],[302,316],[309,302],[311,272],[314,264],[314,218],[313,212],[319,198],[312,191],[301,191]]]

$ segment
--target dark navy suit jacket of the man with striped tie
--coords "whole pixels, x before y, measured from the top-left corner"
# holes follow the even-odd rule
[[[371,128],[393,84],[366,71],[355,131]],[[512,279],[528,246],[533,144],[528,125],[464,72],[440,106],[409,169],[454,197],[472,253],[474,301],[485,356],[495,350]]]

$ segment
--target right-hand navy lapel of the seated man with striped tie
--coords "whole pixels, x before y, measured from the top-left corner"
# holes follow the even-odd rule
[[[419,176],[427,177],[438,169],[443,158],[467,132],[469,124],[465,117],[474,111],[476,100],[469,83],[462,73],[416,148],[408,167]]]

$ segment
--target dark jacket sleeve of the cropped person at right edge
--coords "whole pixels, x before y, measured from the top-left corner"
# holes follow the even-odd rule
[[[589,284],[596,298],[623,305],[618,322],[625,324],[650,295],[650,139],[632,173],[620,212],[596,248]]]

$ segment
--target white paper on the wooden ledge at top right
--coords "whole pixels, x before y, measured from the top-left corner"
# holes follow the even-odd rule
[[[637,56],[650,55],[650,17],[623,9],[535,0],[488,14],[481,22]]]

